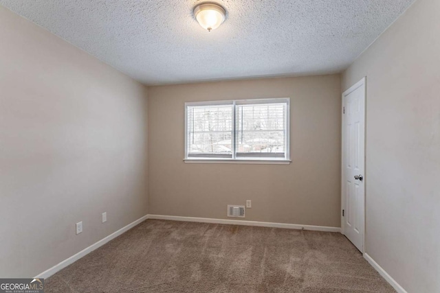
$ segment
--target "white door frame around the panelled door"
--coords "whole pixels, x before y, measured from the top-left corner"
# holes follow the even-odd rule
[[[344,224],[344,216],[342,216],[342,211],[344,209],[346,209],[345,205],[346,205],[346,198],[347,195],[345,194],[345,189],[344,189],[344,141],[345,141],[345,137],[344,137],[344,123],[345,123],[345,115],[344,115],[344,99],[345,97],[347,97],[347,95],[353,93],[353,91],[359,89],[361,86],[364,87],[364,226],[363,226],[363,230],[362,231],[362,251],[361,253],[364,254],[366,249],[365,249],[365,239],[366,239],[366,180],[368,180],[368,178],[366,178],[366,76],[364,76],[360,81],[356,82],[355,84],[353,84],[352,86],[350,86],[349,89],[347,89],[347,91],[344,91],[344,93],[342,93],[342,107],[341,107],[341,116],[342,116],[342,125],[341,125],[341,233],[343,235],[345,235],[345,224]]]

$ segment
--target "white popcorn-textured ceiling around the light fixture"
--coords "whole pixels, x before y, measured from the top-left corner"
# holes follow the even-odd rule
[[[337,73],[413,0],[217,0],[217,30],[197,0],[0,0],[144,84]]]

